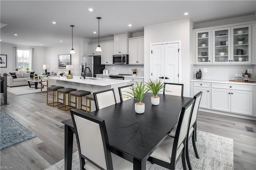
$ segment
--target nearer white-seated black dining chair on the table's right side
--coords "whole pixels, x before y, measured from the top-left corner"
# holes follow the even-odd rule
[[[182,166],[186,170],[186,136],[194,99],[190,99],[181,109],[175,137],[167,136],[148,158],[151,163],[164,168],[175,170],[175,166],[182,157]]]

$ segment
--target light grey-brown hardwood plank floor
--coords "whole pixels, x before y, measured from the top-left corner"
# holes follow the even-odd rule
[[[8,103],[1,106],[1,110],[37,137],[2,149],[1,166],[14,167],[15,170],[40,170],[62,160],[64,125],[61,121],[71,118],[69,111],[46,105],[46,92],[19,96],[8,93]],[[234,140],[234,170],[256,169],[256,134],[247,132],[245,126],[256,130],[256,121],[198,113],[198,130]],[[73,152],[76,150],[74,136]]]

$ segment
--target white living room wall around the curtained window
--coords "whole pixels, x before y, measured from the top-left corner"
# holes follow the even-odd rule
[[[15,68],[15,59],[14,59],[14,47],[28,47],[35,48],[35,65],[34,71],[37,74],[44,73],[43,64],[45,62],[45,47],[34,47],[34,46],[24,46],[10,43],[2,43],[1,42],[1,54],[7,55],[7,67],[1,68],[1,73],[9,73],[10,71],[14,71]]]

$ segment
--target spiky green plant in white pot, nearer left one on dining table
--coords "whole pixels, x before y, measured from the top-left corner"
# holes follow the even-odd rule
[[[146,87],[146,84],[143,85],[143,83],[141,82],[140,84],[138,84],[138,82],[136,82],[136,87],[130,85],[130,91],[126,91],[128,93],[128,97],[131,97],[133,99],[135,99],[136,101],[138,101],[137,103],[134,104],[134,108],[135,108],[135,112],[136,113],[144,113],[145,111],[145,103],[142,103],[142,99],[144,97],[144,95],[149,91],[149,89]]]

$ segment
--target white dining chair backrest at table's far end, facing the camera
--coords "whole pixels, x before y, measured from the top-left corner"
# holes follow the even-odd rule
[[[164,95],[183,96],[183,84],[164,83]]]

